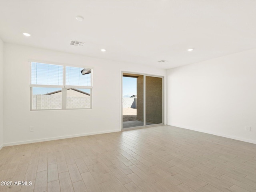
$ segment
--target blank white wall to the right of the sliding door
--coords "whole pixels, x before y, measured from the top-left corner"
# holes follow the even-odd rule
[[[168,125],[256,143],[256,49],[173,68],[167,78]]]

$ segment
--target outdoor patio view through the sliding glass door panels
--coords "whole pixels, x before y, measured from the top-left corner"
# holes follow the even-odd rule
[[[162,77],[123,73],[122,87],[123,128],[162,124]]]

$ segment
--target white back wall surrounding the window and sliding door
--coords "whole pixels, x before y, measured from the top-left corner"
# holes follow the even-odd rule
[[[165,75],[166,70],[5,44],[4,144],[120,131],[121,70]],[[92,67],[92,110],[30,111],[29,60]],[[16,97],[16,95],[20,95]],[[18,98],[18,99],[17,99]],[[34,132],[29,127],[34,126]]]

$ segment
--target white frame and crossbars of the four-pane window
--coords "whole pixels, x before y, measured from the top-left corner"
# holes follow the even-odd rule
[[[63,66],[63,74],[62,74],[62,85],[38,85],[38,84],[31,84],[31,63],[42,63],[42,64],[51,64],[51,65],[59,65]],[[81,67],[81,66],[73,66],[69,64],[62,64],[62,63],[54,63],[54,62],[46,62],[46,61],[37,61],[37,60],[29,60],[30,66],[30,111],[50,111],[50,110],[82,110],[82,109],[92,109],[92,88],[93,88],[93,68],[92,67]],[[66,85],[66,67],[77,67],[77,68],[88,68],[91,69],[91,86],[71,86]],[[33,87],[42,87],[42,88],[61,88],[62,89],[62,107],[61,109],[33,109]],[[79,89],[90,89],[90,108],[67,108],[67,90],[68,88],[79,88]]]

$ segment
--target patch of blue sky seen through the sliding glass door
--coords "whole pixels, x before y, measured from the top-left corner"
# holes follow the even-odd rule
[[[123,77],[123,97],[137,94],[137,78]]]

